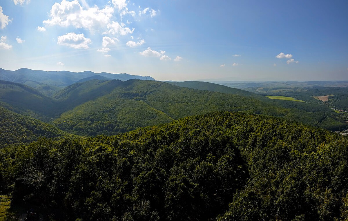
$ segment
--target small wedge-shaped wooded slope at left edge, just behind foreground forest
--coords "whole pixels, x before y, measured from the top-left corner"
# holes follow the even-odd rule
[[[0,106],[0,149],[7,144],[30,143],[36,141],[40,136],[51,138],[66,135],[68,133],[52,125]]]

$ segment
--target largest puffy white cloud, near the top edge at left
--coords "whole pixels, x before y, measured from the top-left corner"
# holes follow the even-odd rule
[[[55,3],[50,11],[51,19],[44,21],[47,25],[59,25],[62,27],[74,26],[85,28],[91,32],[99,30],[110,23],[114,9],[108,5],[99,9],[96,5],[87,10],[83,9],[78,0]]]

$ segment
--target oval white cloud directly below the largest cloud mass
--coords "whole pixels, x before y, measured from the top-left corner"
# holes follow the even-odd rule
[[[80,48],[89,48],[89,44],[92,41],[89,38],[86,38],[84,34],[68,33],[58,37],[58,45],[64,45],[75,49]]]

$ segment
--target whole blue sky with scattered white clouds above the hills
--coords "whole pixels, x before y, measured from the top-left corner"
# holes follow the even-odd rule
[[[348,80],[347,11],[347,0],[1,0],[0,68]]]

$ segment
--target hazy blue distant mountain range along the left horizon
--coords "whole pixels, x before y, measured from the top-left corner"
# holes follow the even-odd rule
[[[9,71],[0,68],[0,80],[28,85],[39,90],[42,94],[45,95],[52,95],[58,90],[74,84],[75,82],[83,82],[92,79],[116,79],[121,81],[130,79],[155,80],[150,76],[144,77],[126,73],[112,74],[106,72],[94,73],[92,71],[38,71],[27,68],[21,68],[16,71]]]

